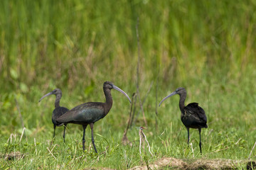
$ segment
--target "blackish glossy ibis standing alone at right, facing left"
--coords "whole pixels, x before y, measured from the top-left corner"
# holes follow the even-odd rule
[[[159,106],[166,98],[174,96],[175,94],[178,94],[180,96],[179,108],[181,110],[181,121],[188,130],[188,142],[189,142],[189,128],[198,129],[199,137],[200,137],[199,147],[200,147],[200,152],[202,153],[201,128],[208,128],[206,124],[207,123],[206,113],[205,111],[203,111],[203,108],[198,106],[198,103],[189,103],[188,106],[184,105],[185,99],[186,99],[186,89],[184,89],[183,87],[179,87],[178,89],[176,89],[176,91],[166,96],[159,103]]]

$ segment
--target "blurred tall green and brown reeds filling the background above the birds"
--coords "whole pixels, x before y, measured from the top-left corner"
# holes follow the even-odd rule
[[[165,86],[218,72],[239,79],[255,61],[255,5],[1,1],[1,89],[28,92],[31,86],[42,89],[52,82],[73,91],[102,79],[134,81],[137,17],[143,83],[158,72]]]

